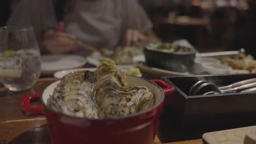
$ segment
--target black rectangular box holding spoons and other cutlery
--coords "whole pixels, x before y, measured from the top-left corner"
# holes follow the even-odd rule
[[[166,97],[161,113],[159,135],[162,141],[199,139],[209,131],[256,125],[255,92],[188,95],[191,86],[199,80],[225,86],[254,77],[256,74],[162,77],[176,89],[174,95]],[[176,140],[167,136],[172,133],[168,129],[176,131]]]

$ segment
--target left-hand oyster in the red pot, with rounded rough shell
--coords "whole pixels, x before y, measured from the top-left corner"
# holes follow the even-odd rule
[[[60,81],[48,99],[50,107],[69,116],[98,118],[94,73],[76,71]]]

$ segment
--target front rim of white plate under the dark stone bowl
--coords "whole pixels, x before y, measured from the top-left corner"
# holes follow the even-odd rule
[[[164,69],[152,68],[148,67],[147,65],[138,65],[138,68],[141,70],[142,73],[153,75],[153,76],[188,76],[191,74],[188,73],[179,73],[176,71],[169,71]]]

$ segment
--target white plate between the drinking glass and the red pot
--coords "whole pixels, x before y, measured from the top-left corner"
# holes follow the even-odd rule
[[[79,68],[86,64],[86,58],[77,55],[43,55],[42,74],[54,74],[56,71]]]

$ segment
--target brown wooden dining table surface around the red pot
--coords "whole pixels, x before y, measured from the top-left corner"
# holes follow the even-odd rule
[[[40,93],[43,89],[57,81],[54,77],[42,76],[27,91],[11,92],[0,85],[0,144],[50,143],[46,119],[42,116],[26,117],[22,115],[21,99],[25,95]],[[172,135],[170,135],[172,136]],[[156,137],[155,143],[161,143]],[[201,144],[202,140],[171,142],[169,144]]]

